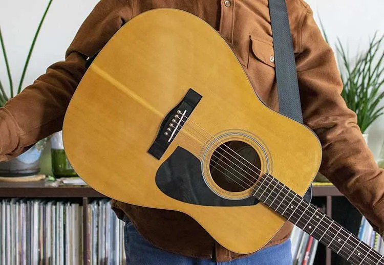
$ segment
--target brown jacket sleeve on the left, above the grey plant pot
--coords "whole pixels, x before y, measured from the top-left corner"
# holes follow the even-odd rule
[[[100,1],[78,30],[65,61],[52,64],[0,108],[0,161],[18,156],[38,140],[61,130],[67,106],[86,71],[87,58],[132,18],[131,2]]]

